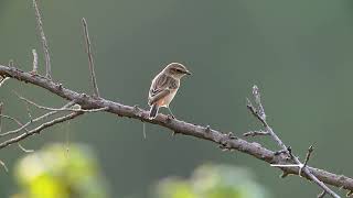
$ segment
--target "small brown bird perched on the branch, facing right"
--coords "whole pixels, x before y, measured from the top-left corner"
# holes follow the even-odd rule
[[[180,79],[185,75],[191,75],[185,66],[180,63],[171,63],[153,78],[148,97],[148,105],[151,107],[149,119],[157,117],[160,107],[165,107],[174,118],[169,103],[180,87]]]

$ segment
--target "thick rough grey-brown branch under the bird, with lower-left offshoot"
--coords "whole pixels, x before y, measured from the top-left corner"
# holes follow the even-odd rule
[[[78,94],[71,89],[65,88],[62,84],[54,82],[42,76],[33,76],[29,73],[19,70],[17,68],[0,65],[0,75],[11,77],[13,79],[18,79],[19,81],[29,82],[34,86],[41,87],[43,89],[46,89],[52,94],[58,97],[62,97],[68,101],[75,101],[75,103],[79,105],[83,109],[89,110],[89,109],[106,108],[105,111],[117,114],[119,117],[137,119],[143,122],[149,122],[152,124],[161,125],[163,128],[168,128],[175,133],[207,140],[216,143],[223,148],[227,148],[228,151],[236,150],[242,153],[249,154],[269,164],[275,164],[275,165],[276,164],[289,164],[289,165],[293,164],[291,157],[287,156],[288,153],[291,156],[291,152],[289,151],[288,147],[284,147],[285,154],[284,153],[278,154],[277,152],[267,150],[266,147],[261,146],[258,143],[247,142],[243,139],[234,136],[231,133],[224,134],[220,131],[211,129],[211,127],[201,127],[201,125],[195,125],[193,123],[188,123],[185,121],[170,119],[168,118],[168,116],[164,116],[164,114],[159,114],[156,119],[150,120],[148,116],[149,111],[142,110],[137,106],[136,107],[126,106],[126,105],[121,105],[110,100],[106,100],[104,98],[95,98],[95,97],[87,96],[86,94]],[[252,109],[252,107],[248,106],[249,109]],[[264,116],[257,116],[256,112],[257,111],[255,109],[254,111],[252,111],[254,116],[264,118]],[[83,113],[83,112],[73,112],[69,114],[68,119],[66,118],[64,120],[73,119],[72,117],[76,117],[79,113]],[[46,124],[45,128],[49,128],[49,127],[50,125]],[[19,142],[21,140],[24,140],[25,138],[29,136],[29,134],[32,134],[32,133],[23,133],[21,136],[15,138],[15,140],[10,140],[10,142],[7,141],[0,144],[0,148],[10,145],[13,142]],[[289,174],[299,175],[299,169],[300,169],[300,167],[298,166],[279,167],[279,168],[285,173],[286,176]],[[306,166],[303,170],[306,173],[303,175],[303,178],[312,180],[312,175],[313,175],[317,179],[328,185],[336,186],[347,190],[353,190],[353,179],[350,177],[346,177],[344,175],[336,175],[336,174],[327,172],[324,169],[318,169],[310,166]]]

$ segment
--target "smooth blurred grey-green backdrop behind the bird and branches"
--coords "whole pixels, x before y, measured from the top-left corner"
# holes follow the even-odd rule
[[[88,22],[103,97],[147,108],[151,78],[170,62],[193,76],[183,80],[171,105],[174,114],[240,135],[259,129],[245,98],[254,84],[263,91],[270,124],[310,165],[353,175],[352,74],[353,3],[349,0],[61,0],[40,1],[49,38],[53,78],[90,91],[81,19]],[[32,48],[43,53],[31,1],[0,1],[0,63],[13,59],[30,70]],[[29,85],[9,81],[0,89],[6,113],[25,120],[25,106],[11,92],[45,106],[64,102]],[[196,99],[197,97],[197,99]],[[34,111],[34,110],[33,110]],[[164,111],[165,112],[165,111]],[[23,142],[39,150],[51,142],[81,142],[95,151],[113,197],[143,198],[163,178],[188,178],[202,164],[247,167],[271,197],[314,197],[320,189],[242,153],[111,114],[89,114]],[[257,138],[268,148],[268,138]],[[1,150],[10,173],[0,170],[0,197],[19,191],[13,166],[25,154]],[[238,178],[242,179],[242,178]],[[293,194],[295,191],[295,194]],[[343,191],[342,191],[343,195]]]

